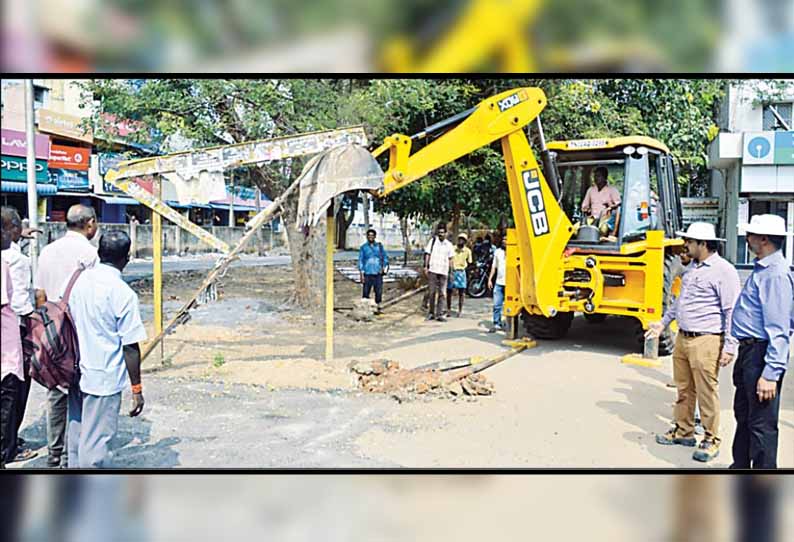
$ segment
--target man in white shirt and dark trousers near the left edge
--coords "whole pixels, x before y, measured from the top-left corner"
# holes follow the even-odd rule
[[[2,251],[3,261],[9,268],[11,274],[11,284],[13,286],[13,295],[10,300],[11,310],[17,316],[20,327],[20,337],[24,338],[27,323],[26,319],[33,312],[33,290],[31,286],[31,273],[30,273],[30,258],[22,253],[19,247],[19,240],[22,238],[22,219],[19,213],[13,207],[3,207],[2,209],[3,227],[9,230],[11,235],[11,244],[9,248]],[[22,426],[22,420],[25,418],[25,408],[28,403],[28,395],[30,394],[30,368],[27,364],[23,365],[23,375],[20,386],[18,387],[19,395],[16,401],[16,434],[19,434],[19,429]],[[36,457],[37,453],[31,450],[24,449],[24,440],[17,438],[17,454],[14,461],[27,461]]]

